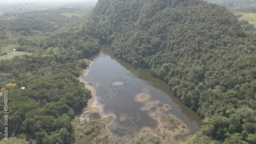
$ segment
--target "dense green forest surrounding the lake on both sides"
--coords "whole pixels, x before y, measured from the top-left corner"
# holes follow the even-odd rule
[[[203,117],[188,143],[256,143],[256,40],[248,21],[201,0],[102,0],[88,16],[76,12],[0,20],[1,47],[35,53],[0,61],[0,88],[11,89],[10,136],[73,143],[71,119],[90,98],[76,79],[88,65],[81,59],[111,44],[116,57],[146,63]],[[3,102],[0,110],[3,117]]]

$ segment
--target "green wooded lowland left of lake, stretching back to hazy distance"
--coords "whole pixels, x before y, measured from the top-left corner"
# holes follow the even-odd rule
[[[0,20],[0,50],[8,54],[0,57],[0,89],[8,90],[11,143],[75,142],[72,119],[91,98],[91,92],[77,78],[89,66],[84,58],[98,53],[100,45],[90,35],[79,35],[80,27],[70,31],[78,17],[61,14],[71,11],[81,14],[86,10],[6,13]],[[4,126],[4,99],[0,103],[0,125]],[[0,139],[3,138],[1,133]]]

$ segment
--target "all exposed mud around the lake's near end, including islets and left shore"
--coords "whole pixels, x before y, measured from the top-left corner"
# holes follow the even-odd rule
[[[83,70],[83,76],[88,70]],[[79,78],[81,81],[82,76]],[[133,96],[136,103],[141,103],[141,111],[155,119],[155,127],[139,128],[136,123],[143,121],[140,113],[134,113],[130,117],[126,113],[115,115],[114,111],[103,113],[103,106],[97,101],[96,90],[93,86],[84,82],[85,87],[92,91],[92,98],[83,113],[73,119],[73,126],[76,135],[75,143],[136,143],[141,136],[159,138],[160,143],[172,143],[176,135],[188,133],[189,128],[175,115],[166,114],[172,106],[153,100],[148,94],[148,89],[143,88],[141,92]],[[113,82],[112,86],[123,85],[122,82]],[[154,96],[154,95],[153,95]],[[123,125],[125,123],[125,125]],[[128,124],[128,125],[127,125]],[[116,131],[121,135],[112,133]]]

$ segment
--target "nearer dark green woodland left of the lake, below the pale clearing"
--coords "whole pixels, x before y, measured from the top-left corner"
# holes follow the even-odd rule
[[[36,143],[74,142],[71,120],[91,97],[91,92],[76,79],[84,68],[80,63],[28,55],[1,61],[2,87],[10,82],[17,84],[12,88],[5,86],[9,90],[9,136]],[[3,104],[1,100],[1,115]],[[3,122],[2,118],[2,125]],[[4,131],[3,127],[0,129]]]

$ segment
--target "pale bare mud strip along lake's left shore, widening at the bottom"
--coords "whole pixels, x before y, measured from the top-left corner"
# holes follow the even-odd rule
[[[88,73],[88,69],[83,69],[82,75],[78,78],[79,81],[83,82],[81,78]],[[100,113],[102,112],[103,107],[97,104],[96,89],[87,82],[84,82],[84,87],[89,89],[92,95],[92,98],[88,101],[88,106],[83,109],[83,112],[90,112],[90,121],[81,121],[81,115],[75,116],[72,121],[76,135],[75,143],[111,143],[110,140],[112,139],[112,135],[108,132],[106,126],[114,121],[115,116],[111,114],[101,116]]]

